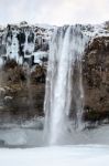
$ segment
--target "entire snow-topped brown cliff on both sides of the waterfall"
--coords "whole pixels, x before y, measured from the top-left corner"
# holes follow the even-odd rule
[[[109,30],[87,25],[92,40],[83,56],[84,120],[109,118]],[[9,25],[0,32],[0,122],[44,116],[48,42],[54,28]]]

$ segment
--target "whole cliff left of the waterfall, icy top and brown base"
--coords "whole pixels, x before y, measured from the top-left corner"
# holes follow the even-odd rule
[[[43,116],[48,43],[54,27],[0,29],[0,122]]]

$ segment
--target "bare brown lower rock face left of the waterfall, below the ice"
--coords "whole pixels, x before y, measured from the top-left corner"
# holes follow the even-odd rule
[[[45,73],[45,68],[37,65],[28,75],[15,61],[6,63],[0,72],[0,123],[44,116]]]

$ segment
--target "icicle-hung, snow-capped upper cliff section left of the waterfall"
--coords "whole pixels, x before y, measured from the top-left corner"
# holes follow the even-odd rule
[[[40,63],[48,55],[48,42],[54,28],[29,25],[26,22],[9,24],[0,29],[0,56],[4,62],[15,60],[31,65]]]

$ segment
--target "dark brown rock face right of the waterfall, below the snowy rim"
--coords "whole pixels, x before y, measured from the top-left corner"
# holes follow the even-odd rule
[[[83,60],[85,120],[109,120],[109,37],[94,39]]]

